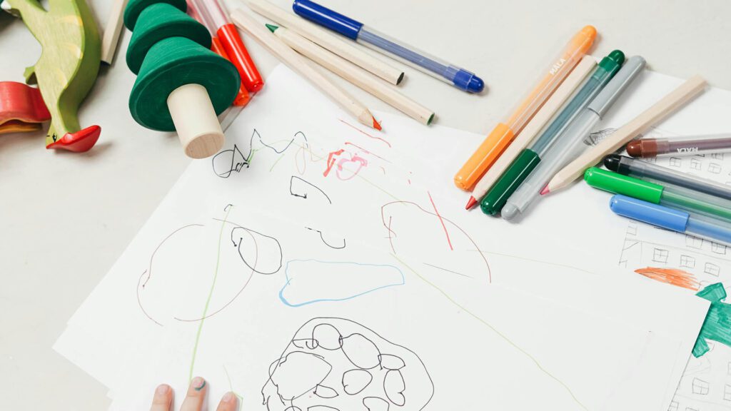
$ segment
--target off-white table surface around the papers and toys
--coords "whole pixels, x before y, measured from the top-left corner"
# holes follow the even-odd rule
[[[101,22],[109,3],[91,1]],[[322,3],[480,75],[488,91],[474,96],[407,70],[404,93],[449,127],[490,131],[526,93],[537,70],[586,24],[599,31],[595,56],[620,48],[645,57],[650,69],[683,78],[699,73],[713,86],[731,88],[727,0]],[[124,64],[129,37],[125,31],[115,64],[102,67],[81,107],[83,127],[102,127],[91,151],[47,151],[45,133],[0,135],[3,410],[105,410],[109,403],[106,388],[51,345],[190,162],[174,135],[143,129],[129,115],[135,80]],[[262,74],[276,66],[259,45],[247,45]],[[0,13],[0,80],[23,81],[24,67],[34,64],[39,51],[20,20]],[[393,110],[354,93],[371,108]]]

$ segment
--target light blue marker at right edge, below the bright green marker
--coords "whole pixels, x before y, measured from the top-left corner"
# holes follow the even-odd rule
[[[731,222],[726,219],[689,214],[686,211],[658,206],[654,203],[624,195],[612,197],[609,206],[612,211],[620,216],[646,222],[677,233],[705,238],[714,243],[731,245]]]

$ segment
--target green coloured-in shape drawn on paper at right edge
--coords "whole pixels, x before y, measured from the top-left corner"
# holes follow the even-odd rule
[[[706,340],[710,339],[731,347],[731,304],[721,302],[726,299],[726,290],[720,282],[705,287],[696,295],[711,301],[711,307],[693,347],[693,356],[698,358],[711,349]]]

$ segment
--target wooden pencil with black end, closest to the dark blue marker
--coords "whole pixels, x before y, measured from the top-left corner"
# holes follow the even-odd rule
[[[367,72],[371,72],[391,84],[398,85],[404,79],[403,70],[396,69],[384,61],[376,59],[376,57],[356,48],[350,42],[338,38],[336,35],[322,29],[314,23],[310,23],[297,15],[276,7],[276,5],[271,4],[267,0],[247,0],[246,4],[254,12],[272,20],[274,23],[278,23],[280,26],[297,31],[300,36],[317,43],[322,48],[336,53],[343,59],[351,61],[358,67],[362,67]]]

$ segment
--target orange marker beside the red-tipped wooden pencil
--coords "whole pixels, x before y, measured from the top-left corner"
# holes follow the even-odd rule
[[[545,77],[531,91],[508,121],[499,123],[485,138],[477,151],[467,160],[455,175],[455,184],[463,190],[471,190],[482,175],[500,157],[500,154],[518,136],[520,130],[528,124],[535,113],[548,100],[553,91],[561,85],[564,78],[586,54],[594,43],[596,29],[586,26],[579,31],[566,45],[561,55],[553,61]]]

